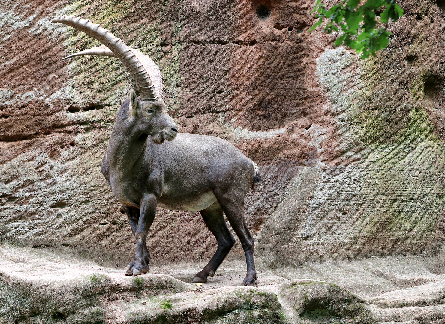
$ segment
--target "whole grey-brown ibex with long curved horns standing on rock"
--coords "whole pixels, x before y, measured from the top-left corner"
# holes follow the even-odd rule
[[[244,220],[247,191],[262,182],[257,164],[221,138],[178,134],[178,126],[166,110],[166,87],[161,72],[138,49],[129,48],[105,28],[81,17],[59,16],[53,23],[72,26],[103,44],[65,58],[116,57],[129,71],[140,94],[136,97],[131,89],[130,98],[121,104],[101,164],[101,171],[121,202],[136,238],[136,255],[125,275],[149,271],[146,237],[159,206],[199,211],[218,242],[218,249],[194,277],[194,283],[206,283],[235,243],[224,220],[225,213],[246,255],[247,275],[243,285],[257,285],[254,240]]]

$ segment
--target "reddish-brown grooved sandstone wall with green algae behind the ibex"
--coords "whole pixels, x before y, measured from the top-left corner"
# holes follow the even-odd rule
[[[116,266],[132,258],[100,162],[134,85],[113,58],[61,61],[98,45],[51,24],[73,14],[157,62],[180,131],[225,138],[259,163],[266,183],[248,194],[246,217],[272,266],[437,253],[445,9],[401,5],[388,49],[360,61],[309,32],[312,1],[4,1],[1,239]],[[162,209],[148,242],[157,263],[206,260],[215,244],[198,213]]]

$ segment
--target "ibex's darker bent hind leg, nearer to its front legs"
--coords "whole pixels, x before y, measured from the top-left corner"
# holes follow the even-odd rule
[[[215,207],[212,206],[199,212],[201,213],[204,223],[206,223],[206,226],[218,242],[218,248],[209,263],[207,263],[204,269],[199,271],[193,279],[193,283],[206,283],[209,275],[211,277],[214,276],[216,269],[218,269],[219,265],[227,256],[227,253],[229,253],[230,249],[233,247],[235,239],[227,228],[221,207],[218,206],[215,209]]]

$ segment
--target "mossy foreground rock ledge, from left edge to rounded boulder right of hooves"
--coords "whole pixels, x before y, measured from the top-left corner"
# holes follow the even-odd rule
[[[31,248],[2,251],[0,323],[5,324],[284,324],[336,318],[374,323],[365,300],[322,281],[282,279],[277,284],[266,278],[259,288],[198,287],[170,275],[125,277],[121,271]]]

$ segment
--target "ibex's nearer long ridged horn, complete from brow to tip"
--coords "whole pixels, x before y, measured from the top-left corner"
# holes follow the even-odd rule
[[[120,38],[113,36],[109,30],[102,28],[99,24],[93,24],[89,20],[75,16],[58,16],[53,19],[53,23],[69,25],[100,41],[116,55],[130,73],[142,100],[158,99],[154,86],[151,83],[150,76],[142,63],[136,57],[134,52],[125,45]]]

